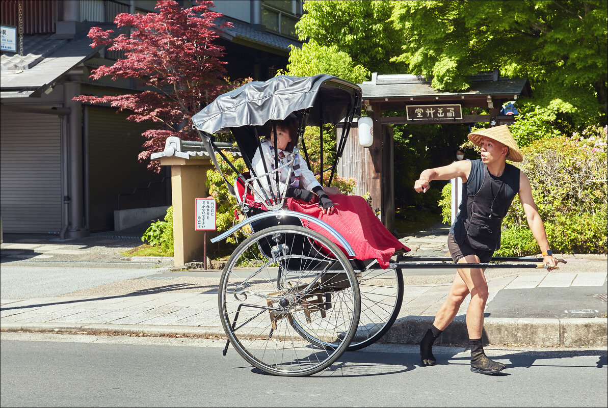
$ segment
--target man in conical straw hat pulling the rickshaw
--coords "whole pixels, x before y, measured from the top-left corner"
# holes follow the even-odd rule
[[[469,133],[469,140],[481,149],[481,159],[460,160],[443,167],[428,168],[420,173],[414,189],[426,193],[432,180],[463,179],[462,204],[447,236],[447,247],[455,263],[488,263],[500,247],[502,219],[516,195],[522,203],[528,226],[539,244],[547,269],[556,268],[541,216],[536,209],[530,181],[512,164],[523,161],[506,125]],[[420,342],[423,365],[435,365],[432,345],[452,322],[463,300],[470,294],[466,310],[466,327],[471,344],[471,372],[491,375],[505,365],[489,359],[482,346],[483,311],[488,300],[488,282],[482,268],[457,268],[447,299],[435,321]]]

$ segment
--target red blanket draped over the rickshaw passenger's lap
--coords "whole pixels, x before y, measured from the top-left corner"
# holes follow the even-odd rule
[[[397,249],[410,249],[387,230],[373,213],[370,206],[361,196],[331,195],[334,203],[334,213],[322,213],[317,202],[307,204],[292,198],[287,199],[287,206],[292,211],[313,215],[334,227],[353,247],[355,258],[368,260],[376,258],[382,269],[389,267],[390,257]],[[309,228],[322,233],[337,244],[346,254],[344,248],[321,227],[309,224]]]

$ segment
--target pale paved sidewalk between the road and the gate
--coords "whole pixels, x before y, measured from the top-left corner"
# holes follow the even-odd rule
[[[218,316],[219,271],[170,271],[170,259],[127,258],[120,252],[140,241],[98,235],[79,241],[16,237],[1,246],[2,331],[61,331],[225,337]],[[444,255],[443,234],[407,238],[414,255]],[[413,248],[414,249],[414,248]],[[484,338],[489,344],[607,347],[605,255],[564,256],[559,271],[488,269]],[[6,297],[18,292],[21,268],[122,268],[136,277],[53,296]],[[454,277],[447,269],[404,270],[399,317],[383,342],[415,344],[432,323]],[[23,285],[33,283],[23,282]],[[465,344],[463,303],[441,344]]]

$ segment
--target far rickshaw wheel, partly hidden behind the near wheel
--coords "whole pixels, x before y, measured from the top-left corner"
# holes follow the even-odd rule
[[[356,272],[358,273],[358,272]],[[399,268],[361,272],[361,317],[349,351],[374,344],[389,331],[401,310],[403,274]]]

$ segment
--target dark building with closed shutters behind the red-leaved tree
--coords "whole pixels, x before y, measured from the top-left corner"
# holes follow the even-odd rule
[[[191,1],[179,1],[185,7]],[[137,161],[147,125],[127,113],[72,101],[81,94],[136,91],[131,80],[89,79],[119,52],[92,49],[94,26],[108,30],[118,13],[148,13],[146,0],[3,0],[1,7],[1,216],[4,233],[84,237],[114,230],[115,212],[164,215],[170,170],[159,175]],[[266,80],[301,46],[295,22],[302,2],[215,1],[230,78]],[[19,19],[21,15],[21,19]],[[19,24],[21,21],[21,24]],[[12,35],[12,37],[11,37]],[[6,40],[6,41],[5,41]],[[22,52],[21,52],[22,50]],[[22,54],[22,55],[21,55]],[[121,224],[127,227],[128,224]]]

